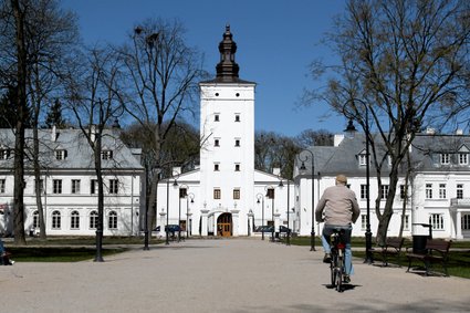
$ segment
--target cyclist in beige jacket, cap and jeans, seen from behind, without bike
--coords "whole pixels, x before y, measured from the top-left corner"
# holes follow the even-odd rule
[[[323,192],[322,198],[316,205],[315,218],[317,221],[325,222],[322,231],[322,246],[325,251],[323,262],[330,263],[331,248],[330,237],[334,229],[344,229],[344,240],[346,243],[345,281],[349,282],[349,275],[353,274],[352,252],[351,252],[351,233],[353,223],[359,217],[361,209],[357,204],[356,194],[347,186],[347,177],[344,175],[336,176],[335,186],[328,187]]]

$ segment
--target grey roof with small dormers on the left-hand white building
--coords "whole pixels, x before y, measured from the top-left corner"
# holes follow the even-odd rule
[[[25,153],[32,155],[32,129],[25,132]],[[84,169],[94,168],[93,152],[81,129],[39,129],[40,161],[43,168],[51,169]],[[54,139],[55,138],[55,139]],[[102,136],[102,149],[112,150],[111,159],[102,159],[103,169],[142,170],[138,150],[132,150],[119,139],[118,131],[105,129]],[[0,149],[14,149],[14,134],[11,129],[0,129]],[[55,150],[66,150],[66,158],[58,160]],[[27,158],[25,166],[31,167]],[[13,153],[9,159],[0,160],[0,169],[13,167]]]

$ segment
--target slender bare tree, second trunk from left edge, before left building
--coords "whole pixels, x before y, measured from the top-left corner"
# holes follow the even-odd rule
[[[79,41],[76,18],[71,12],[59,9],[54,0],[31,1],[27,23],[28,40],[28,94],[31,107],[33,129],[33,150],[31,154],[35,181],[41,181],[40,142],[38,128],[42,108],[52,105],[53,97],[63,90],[62,77],[65,75],[67,59]],[[55,102],[56,103],[56,102]],[[55,104],[54,103],[54,104]],[[60,125],[58,125],[60,126]],[[40,238],[45,239],[44,210],[42,206],[41,185],[35,184],[39,213]]]

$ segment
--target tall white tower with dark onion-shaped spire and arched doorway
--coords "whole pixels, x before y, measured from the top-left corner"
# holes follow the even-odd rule
[[[246,236],[254,199],[255,83],[239,79],[229,25],[219,51],[216,79],[199,84],[201,229],[202,236],[205,229],[218,236]]]

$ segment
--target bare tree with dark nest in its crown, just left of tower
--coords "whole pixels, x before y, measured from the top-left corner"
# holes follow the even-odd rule
[[[206,77],[202,56],[184,40],[185,29],[178,21],[147,20],[130,34],[130,43],[119,50],[127,72],[126,111],[152,138],[146,164],[147,229],[155,221],[158,175],[155,169],[169,167],[176,160],[164,157],[170,129],[177,117],[191,116],[197,109],[198,82]],[[147,232],[146,232],[147,234]]]

